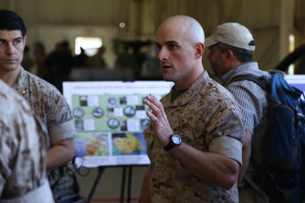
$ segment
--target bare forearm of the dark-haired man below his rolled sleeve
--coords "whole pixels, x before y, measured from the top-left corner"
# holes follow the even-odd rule
[[[47,152],[47,172],[57,169],[73,159],[75,155],[74,138],[58,142]]]

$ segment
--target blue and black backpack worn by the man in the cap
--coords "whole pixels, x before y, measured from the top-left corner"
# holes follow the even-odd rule
[[[260,185],[275,202],[305,202],[305,101],[303,93],[279,72],[270,81],[237,75],[231,82],[250,80],[267,91],[268,127],[264,138],[264,167],[250,162],[260,174]],[[303,95],[304,96],[304,95]]]

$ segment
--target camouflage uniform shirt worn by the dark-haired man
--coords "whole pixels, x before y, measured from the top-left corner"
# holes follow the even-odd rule
[[[27,100],[35,116],[43,123],[44,130],[48,132],[49,144],[53,145],[76,135],[71,109],[55,86],[21,67],[12,88]]]

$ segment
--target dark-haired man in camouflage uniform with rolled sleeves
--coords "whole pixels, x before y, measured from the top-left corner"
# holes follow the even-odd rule
[[[27,100],[48,133],[47,171],[51,171],[73,159],[76,129],[59,90],[21,67],[26,30],[15,12],[0,10],[0,79]]]

